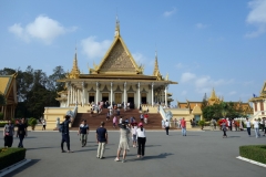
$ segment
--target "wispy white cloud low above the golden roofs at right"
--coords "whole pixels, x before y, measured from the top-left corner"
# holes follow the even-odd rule
[[[232,84],[234,80],[213,80],[209,75],[198,76],[194,73],[186,72],[181,75],[181,82],[191,83],[198,93],[209,93],[213,87]]]

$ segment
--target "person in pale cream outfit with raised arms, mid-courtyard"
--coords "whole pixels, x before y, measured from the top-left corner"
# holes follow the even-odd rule
[[[122,163],[125,163],[126,150],[130,150],[130,129],[127,128],[127,124],[123,121],[120,124],[120,144],[117,149],[115,162],[120,160],[120,153],[123,150],[123,159]]]

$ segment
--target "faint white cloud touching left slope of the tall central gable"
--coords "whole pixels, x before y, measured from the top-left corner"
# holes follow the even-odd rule
[[[99,42],[96,41],[96,37],[89,37],[81,41],[81,46],[83,53],[85,53],[89,59],[96,59],[104,56],[111,43],[112,41],[110,40]]]

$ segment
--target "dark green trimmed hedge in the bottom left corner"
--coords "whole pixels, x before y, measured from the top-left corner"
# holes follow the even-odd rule
[[[0,148],[0,169],[23,160],[25,148]]]

